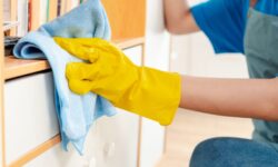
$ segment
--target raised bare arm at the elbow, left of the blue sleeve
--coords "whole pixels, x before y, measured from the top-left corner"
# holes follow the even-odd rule
[[[175,35],[199,31],[188,2],[185,0],[163,0],[166,28]]]

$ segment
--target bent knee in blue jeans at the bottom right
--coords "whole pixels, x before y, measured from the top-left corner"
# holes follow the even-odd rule
[[[278,151],[266,143],[212,138],[195,148],[190,167],[278,167]]]

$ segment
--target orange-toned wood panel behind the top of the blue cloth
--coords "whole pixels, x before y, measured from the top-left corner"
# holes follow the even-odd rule
[[[145,0],[102,0],[112,29],[112,39],[145,36]]]

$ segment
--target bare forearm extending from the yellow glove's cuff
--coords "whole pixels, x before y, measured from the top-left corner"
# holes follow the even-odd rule
[[[278,120],[278,79],[182,77],[180,107],[234,117]]]

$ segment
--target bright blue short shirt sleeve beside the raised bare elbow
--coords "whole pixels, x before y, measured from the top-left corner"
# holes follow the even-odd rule
[[[242,52],[248,0],[209,0],[191,8],[216,53]]]

